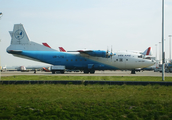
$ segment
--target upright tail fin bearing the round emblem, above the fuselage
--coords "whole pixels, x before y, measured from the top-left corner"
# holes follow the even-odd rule
[[[11,35],[11,44],[29,43],[29,38],[22,24],[15,24],[13,31],[9,31]]]

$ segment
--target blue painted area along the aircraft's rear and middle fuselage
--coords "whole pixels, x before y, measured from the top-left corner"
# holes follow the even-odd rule
[[[20,54],[52,65],[64,65],[66,69],[87,69],[88,64],[93,64],[95,70],[118,69],[116,67],[91,60],[89,57],[84,57],[80,54],[69,54],[58,51],[22,51]]]

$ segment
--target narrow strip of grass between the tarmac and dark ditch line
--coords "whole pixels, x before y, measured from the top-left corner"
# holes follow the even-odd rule
[[[107,80],[107,81],[162,81],[162,77],[153,76],[43,76],[18,75],[3,76],[1,80]],[[172,77],[165,77],[165,81],[172,81]]]

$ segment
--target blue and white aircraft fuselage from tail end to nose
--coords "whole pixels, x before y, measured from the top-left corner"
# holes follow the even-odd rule
[[[31,58],[52,65],[64,65],[66,69],[80,70],[130,70],[147,67],[154,63],[153,60],[144,59],[139,54],[127,52],[115,53],[112,58],[93,57],[80,53],[71,54],[58,51],[22,51],[14,55]]]

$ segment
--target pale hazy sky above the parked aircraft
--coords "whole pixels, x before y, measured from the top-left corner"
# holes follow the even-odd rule
[[[172,0],[165,4],[165,52],[169,58]],[[137,50],[152,47],[159,59],[162,0],[0,0],[1,66],[47,65],[6,52],[14,24],[23,24],[31,41],[66,50]],[[156,47],[157,44],[157,47]]]

